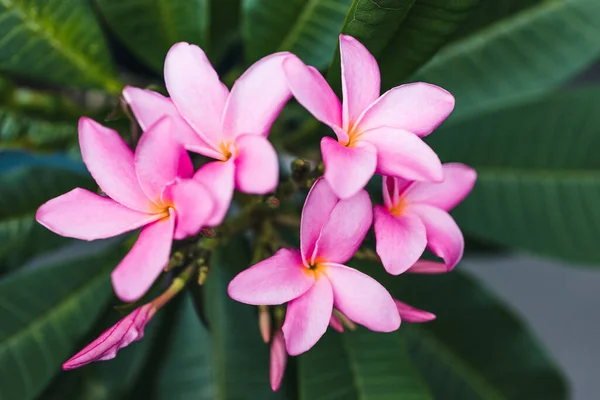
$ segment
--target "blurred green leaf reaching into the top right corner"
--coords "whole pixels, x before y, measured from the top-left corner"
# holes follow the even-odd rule
[[[458,119],[547,92],[600,56],[600,2],[542,2],[440,51],[412,80],[456,97]]]

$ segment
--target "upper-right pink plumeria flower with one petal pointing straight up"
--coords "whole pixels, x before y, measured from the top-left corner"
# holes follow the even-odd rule
[[[412,83],[380,94],[379,67],[356,39],[340,35],[343,103],[319,72],[290,56],[284,70],[290,89],[337,141],[324,137],[325,179],[341,198],[353,196],[374,173],[410,180],[440,181],[439,158],[420,137],[427,136],[454,108],[450,93]]]

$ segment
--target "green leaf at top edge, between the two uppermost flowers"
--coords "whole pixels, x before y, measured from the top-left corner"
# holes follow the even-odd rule
[[[304,62],[329,64],[352,0],[244,0],[242,36],[249,62],[291,51]]]

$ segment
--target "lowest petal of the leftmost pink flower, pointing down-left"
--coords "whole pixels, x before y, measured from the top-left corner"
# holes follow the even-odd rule
[[[125,258],[112,272],[115,293],[125,302],[134,302],[150,289],[169,262],[174,216],[156,221],[144,229]]]

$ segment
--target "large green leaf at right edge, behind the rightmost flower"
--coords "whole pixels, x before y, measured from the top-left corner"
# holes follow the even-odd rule
[[[442,160],[479,178],[456,210],[470,234],[514,248],[600,263],[600,88],[558,93],[435,132]]]

